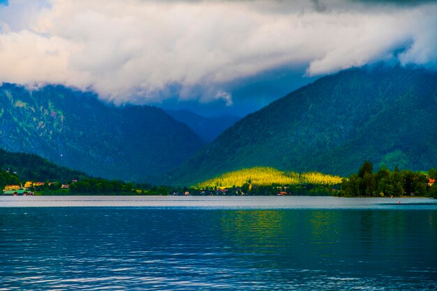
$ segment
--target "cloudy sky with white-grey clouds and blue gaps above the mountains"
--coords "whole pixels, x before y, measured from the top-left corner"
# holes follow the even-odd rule
[[[245,114],[344,68],[437,68],[436,15],[436,1],[0,0],[0,82]]]

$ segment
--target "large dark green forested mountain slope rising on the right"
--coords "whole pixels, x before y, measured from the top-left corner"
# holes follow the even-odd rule
[[[384,67],[323,77],[251,113],[168,181],[195,183],[253,166],[349,175],[375,166],[437,166],[437,73]]]

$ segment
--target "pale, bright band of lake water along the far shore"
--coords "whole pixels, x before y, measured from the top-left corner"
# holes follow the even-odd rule
[[[364,197],[363,197],[364,198]],[[433,209],[424,197],[343,198],[332,196],[1,196],[1,207],[145,207],[238,210]]]

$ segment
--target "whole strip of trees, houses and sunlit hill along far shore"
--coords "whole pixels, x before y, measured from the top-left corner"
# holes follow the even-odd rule
[[[175,196],[341,196],[437,198],[437,170],[428,172],[379,168],[366,161],[348,178],[318,172],[295,173],[275,168],[244,168],[191,187],[82,178],[20,182],[17,173],[0,172],[3,195],[175,195]]]

